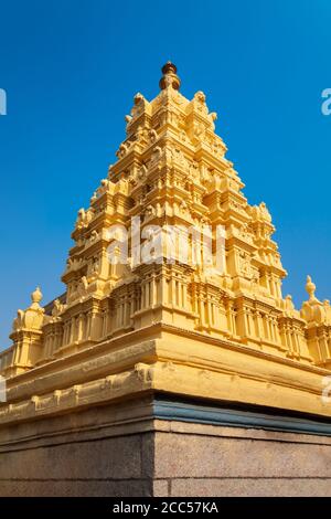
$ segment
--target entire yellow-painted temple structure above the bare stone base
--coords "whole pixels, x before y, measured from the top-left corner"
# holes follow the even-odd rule
[[[243,194],[205,95],[186,99],[175,66],[162,72],[154,99],[135,96],[117,161],[78,212],[65,296],[43,308],[38,288],[18,311],[13,345],[0,353],[0,423],[151,390],[331,415],[321,398],[330,304],[310,277],[301,310],[282,296],[287,273],[266,204]],[[142,230],[224,226],[224,272],[191,255],[110,264],[108,230],[129,230],[132,216]]]

